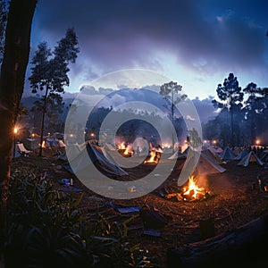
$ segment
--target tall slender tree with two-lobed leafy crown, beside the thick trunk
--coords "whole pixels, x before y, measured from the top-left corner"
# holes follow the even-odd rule
[[[40,133],[39,156],[42,155],[42,143],[44,138],[45,117],[47,111],[47,97],[50,93],[63,93],[64,87],[69,86],[70,71],[69,63],[75,63],[77,54],[80,52],[78,38],[74,29],[67,29],[65,37],[62,38],[53,53],[47,47],[46,42],[38,45],[31,64],[31,76],[29,77],[32,93],[45,90],[43,95],[42,124]],[[52,57],[54,55],[54,57]]]

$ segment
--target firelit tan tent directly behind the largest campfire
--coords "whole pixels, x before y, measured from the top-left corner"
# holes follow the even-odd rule
[[[197,154],[200,154],[200,157],[198,159],[196,169],[192,172],[194,176],[222,173],[226,171],[226,169],[224,169],[220,164],[216,163],[213,159],[202,152],[195,152],[193,155],[191,154],[192,156],[187,158],[185,163],[180,164],[179,170],[182,170],[182,168],[192,169],[195,161],[194,157],[198,157]]]

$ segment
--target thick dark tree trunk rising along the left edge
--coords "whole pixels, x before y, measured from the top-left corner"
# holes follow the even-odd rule
[[[13,157],[13,129],[29,62],[30,29],[37,0],[12,0],[0,78],[0,230],[4,230]]]

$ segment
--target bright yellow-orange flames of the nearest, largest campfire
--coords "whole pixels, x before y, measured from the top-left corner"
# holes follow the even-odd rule
[[[188,179],[188,186],[183,188],[182,191],[184,200],[188,201],[204,199],[206,194],[205,188],[197,186],[194,176]]]

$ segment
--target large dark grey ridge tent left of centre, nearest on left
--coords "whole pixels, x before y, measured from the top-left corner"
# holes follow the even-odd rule
[[[99,172],[112,179],[129,177],[128,172],[125,172],[105,157],[100,147],[87,142],[83,148],[80,154],[74,157],[70,163],[63,165],[66,170],[88,179],[92,176],[96,177]],[[92,165],[95,165],[95,167]]]

